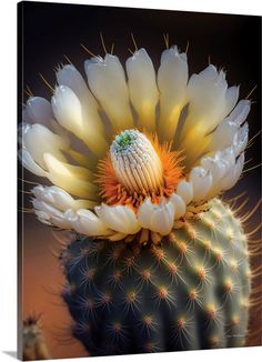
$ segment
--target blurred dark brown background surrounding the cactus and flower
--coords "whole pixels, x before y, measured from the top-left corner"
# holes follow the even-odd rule
[[[122,63],[133,50],[131,32],[138,47],[144,47],[152,57],[155,69],[159,67],[161,51],[165,48],[163,33],[169,33],[170,44],[178,44],[185,50],[189,42],[188,58],[190,74],[199,72],[211,62],[226,70],[230,86],[241,84],[240,99],[252,93],[251,113],[249,115],[250,138],[261,128],[261,18],[234,14],[212,14],[164,10],[141,10],[95,6],[70,6],[41,2],[19,4],[19,121],[21,104],[26,102],[24,88],[30,87],[33,94],[50,99],[51,91],[39,77],[42,73],[51,86],[56,83],[54,67],[66,63],[64,54],[83,73],[83,61],[89,54],[81,48],[83,43],[93,53],[103,56],[100,31],[110,50],[114,42],[114,53]],[[261,143],[256,138],[246,151],[246,169],[261,162]],[[22,174],[22,170],[19,170]],[[23,172],[27,180],[38,181],[32,174]],[[40,181],[40,179],[39,179]],[[30,185],[26,184],[26,189]],[[22,185],[19,185],[22,189]],[[261,198],[260,168],[244,173],[242,180],[226,197],[245,191],[250,201],[245,211],[254,207]],[[20,204],[21,195],[19,198]],[[24,197],[24,205],[30,207]],[[244,210],[243,210],[244,212]],[[258,211],[251,220],[250,228],[260,222]],[[56,306],[57,299],[47,291],[49,284],[58,290],[62,278],[56,258],[49,248],[57,247],[49,228],[40,224],[32,214],[20,214],[24,224],[20,232],[19,247],[23,239],[23,315],[34,311],[44,312],[42,323],[51,353],[58,356],[84,355],[82,348],[75,344],[64,348],[53,331],[62,324],[62,336],[69,335],[69,316],[61,306]],[[255,261],[261,263],[261,260]],[[47,285],[46,285],[47,284]],[[58,301],[57,301],[58,302]],[[252,321],[256,318],[252,316]],[[62,323],[61,323],[62,321]],[[251,322],[252,322],[251,321]],[[253,323],[253,324],[252,324]],[[254,322],[251,328],[256,329]],[[66,326],[64,326],[66,325]],[[71,341],[72,342],[72,341]],[[261,344],[256,336],[249,344]]]

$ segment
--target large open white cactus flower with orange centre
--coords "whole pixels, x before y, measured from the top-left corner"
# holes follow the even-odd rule
[[[57,71],[51,102],[28,100],[20,128],[38,219],[111,241],[150,243],[181,228],[239,180],[250,101],[209,64],[189,77],[187,54],[145,49],[122,67],[105,54]],[[52,185],[44,185],[48,179]]]

